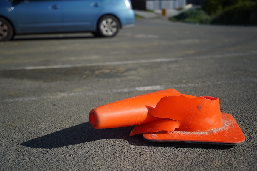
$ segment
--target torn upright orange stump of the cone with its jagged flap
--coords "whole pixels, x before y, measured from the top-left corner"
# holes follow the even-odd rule
[[[148,112],[166,122],[136,126],[130,136],[160,131],[209,131],[222,127],[219,99],[213,97],[163,97],[155,109]],[[169,120],[167,120],[169,119]],[[154,129],[156,128],[156,129]]]

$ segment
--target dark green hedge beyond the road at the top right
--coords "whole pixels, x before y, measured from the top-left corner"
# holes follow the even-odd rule
[[[170,20],[207,24],[257,25],[257,0],[206,0],[202,9],[182,12]]]

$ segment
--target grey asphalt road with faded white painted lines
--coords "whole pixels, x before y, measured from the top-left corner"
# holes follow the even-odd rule
[[[256,170],[257,28],[137,19],[112,39],[17,36],[0,43],[0,170]],[[219,97],[243,145],[146,142],[93,129],[91,109],[175,88]]]

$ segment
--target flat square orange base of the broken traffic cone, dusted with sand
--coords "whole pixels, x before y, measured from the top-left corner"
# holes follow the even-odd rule
[[[220,145],[241,145],[245,141],[236,120],[231,114],[221,113],[223,126],[209,132],[162,131],[159,133],[145,133],[143,138],[152,142],[188,142]]]

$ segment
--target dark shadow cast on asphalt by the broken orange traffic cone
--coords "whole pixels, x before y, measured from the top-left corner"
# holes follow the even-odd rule
[[[21,143],[21,145],[31,148],[59,148],[80,143],[92,142],[101,139],[124,139],[131,145],[155,146],[155,147],[177,147],[177,148],[208,148],[208,149],[229,149],[227,145],[209,144],[187,144],[171,142],[147,142],[142,135],[129,136],[133,127],[94,129],[89,122],[75,125],[51,134]]]

